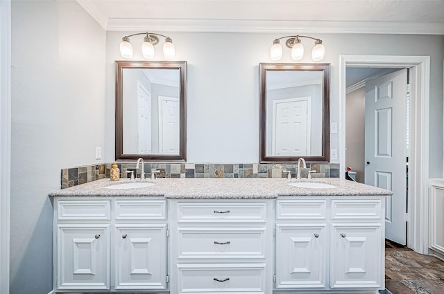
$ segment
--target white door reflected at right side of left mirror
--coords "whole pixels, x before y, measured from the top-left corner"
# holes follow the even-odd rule
[[[179,154],[179,99],[159,96],[160,154]]]

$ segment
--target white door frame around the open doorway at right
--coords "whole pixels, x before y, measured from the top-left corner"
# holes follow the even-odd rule
[[[410,68],[410,152],[407,246],[428,253],[429,207],[429,88],[430,57],[341,55],[339,68],[339,170],[345,170],[345,71],[351,67]],[[344,175],[341,173],[341,178]]]

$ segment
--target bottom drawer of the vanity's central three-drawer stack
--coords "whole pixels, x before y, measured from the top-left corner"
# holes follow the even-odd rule
[[[265,264],[178,265],[179,293],[265,293]]]

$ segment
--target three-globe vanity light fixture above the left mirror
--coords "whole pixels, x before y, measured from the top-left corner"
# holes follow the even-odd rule
[[[153,59],[154,57],[154,46],[159,43],[159,37],[165,37],[164,43],[164,57],[166,59],[171,59],[176,55],[176,48],[174,47],[173,40],[170,37],[156,34],[156,33],[136,33],[133,35],[128,35],[122,38],[120,43],[120,54],[124,58],[133,57],[133,45],[131,45],[130,37],[136,35],[145,35],[144,44],[142,44],[142,55],[146,59]]]

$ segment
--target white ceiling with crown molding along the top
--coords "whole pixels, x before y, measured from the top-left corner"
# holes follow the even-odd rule
[[[106,30],[444,35],[444,0],[77,0]]]

